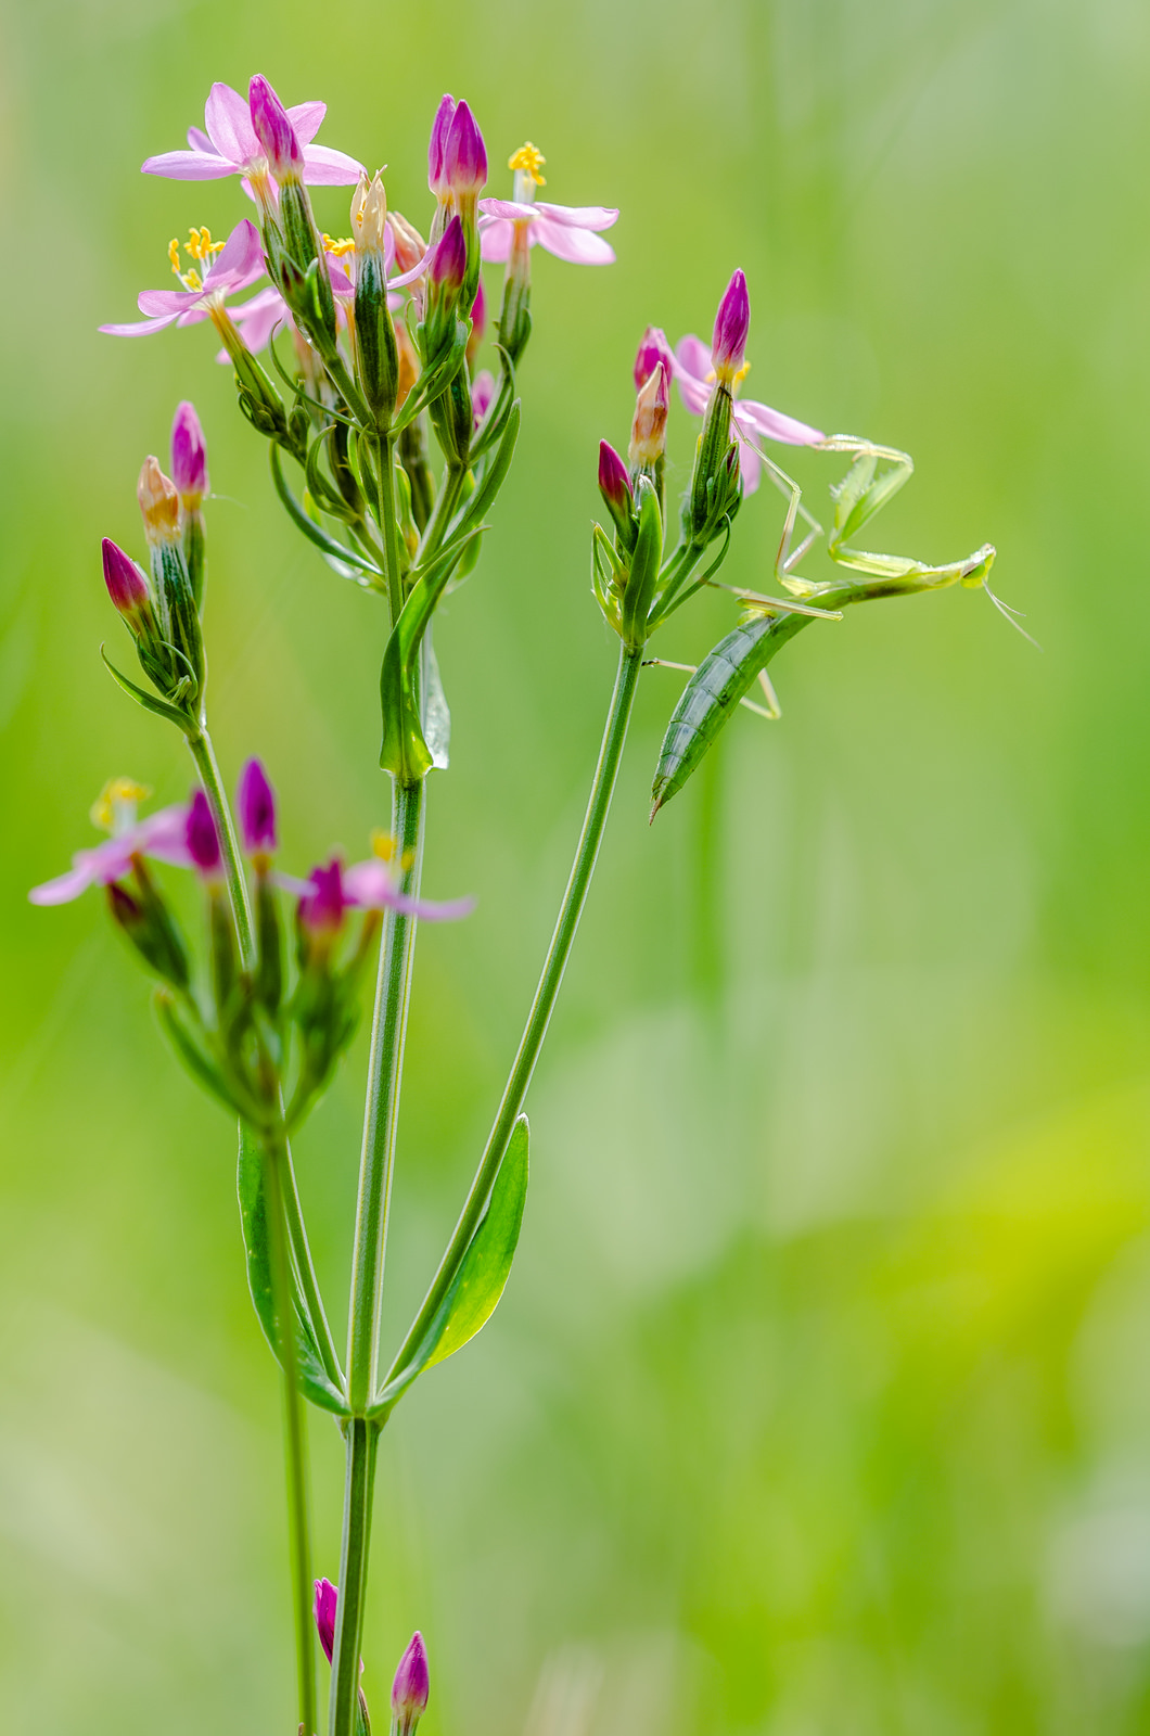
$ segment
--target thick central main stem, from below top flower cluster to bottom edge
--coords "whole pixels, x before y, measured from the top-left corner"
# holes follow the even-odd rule
[[[400,851],[400,891],[419,892],[424,849],[424,785],[394,783],[393,835]],[[360,1689],[360,1635],[368,1529],[372,1519],[372,1470],[377,1425],[365,1420],[375,1385],[379,1359],[379,1311],[384,1290],[387,1212],[400,1121],[403,1038],[415,953],[415,917],[389,910],[379,950],[379,984],[372,1019],[363,1156],[351,1260],[351,1309],[347,1321],[347,1486],[340,1547],[340,1594],[332,1654],[330,1736],[351,1736]]]

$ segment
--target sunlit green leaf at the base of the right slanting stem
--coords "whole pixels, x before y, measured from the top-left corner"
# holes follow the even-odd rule
[[[455,1351],[462,1351],[495,1312],[519,1241],[526,1177],[528,1121],[521,1115],[507,1141],[486,1212],[450,1278],[443,1302],[427,1323],[427,1330],[408,1363],[387,1380],[372,1406],[372,1415],[391,1410],[426,1368],[434,1368]]]

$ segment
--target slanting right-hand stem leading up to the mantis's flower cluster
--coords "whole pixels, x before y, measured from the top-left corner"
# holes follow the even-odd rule
[[[486,1149],[479,1161],[479,1168],[476,1170],[476,1179],[471,1184],[471,1193],[467,1194],[459,1224],[455,1226],[452,1241],[448,1243],[446,1253],[440,1262],[440,1271],[433,1279],[424,1305],[420,1307],[412,1330],[391,1364],[387,1378],[396,1375],[410,1361],[417,1344],[424,1337],[431,1319],[443,1302],[446,1285],[450,1283],[467,1243],[476,1233],[492,1191],[492,1184],[499,1172],[499,1165],[507,1151],[516,1116],[523,1108],[523,1099],[526,1097],[528,1085],[532,1083],[532,1073],[535,1071],[539,1050],[542,1049],[544,1036],[547,1035],[547,1024],[554,1010],[559,984],[563,983],[563,972],[572,951],[578,918],[582,917],[584,904],[587,901],[587,889],[591,887],[599,844],[603,842],[603,828],[606,825],[611,795],[615,792],[615,779],[618,776],[618,762],[627,740],[627,726],[631,722],[641,663],[641,649],[629,651],[627,646],[620,644],[618,672],[615,675],[615,689],[611,693],[611,705],[606,715],[606,727],[603,731],[599,762],[596,766],[591,797],[587,800],[584,830],[578,835],[578,849],[575,851],[572,877],[566,884],[566,892],[563,894],[554,934],[551,936],[551,946],[547,948],[547,958],[544,960],[544,970],[539,979],[539,988],[535,990],[535,1000],[532,1002],[532,1010],[528,1012],[526,1026],[523,1029],[523,1036],[519,1038],[519,1049],[495,1115],[495,1125],[488,1135]]]

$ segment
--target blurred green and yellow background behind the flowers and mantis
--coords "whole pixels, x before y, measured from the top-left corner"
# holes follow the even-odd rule
[[[170,731],[115,693],[97,540],[174,404],[203,417],[212,708],[285,856],[361,852],[382,616],[302,549],[208,328],[96,326],[226,233],[231,182],[144,179],[214,78],[325,97],[426,220],[443,90],[495,191],[618,205],[618,264],[535,253],[525,434],[445,609],[450,774],[408,1045],[389,1325],[453,1220],[545,944],[613,649],[589,597],[599,436],[644,323],[707,332],[735,266],[747,392],[909,448],[879,547],[990,538],[1042,654],[961,590],[813,628],[657,826],[651,672],[535,1088],[504,1304],[403,1403],[365,1684],[427,1635],[427,1736],[966,1736],[1150,1727],[1150,14],[1141,0],[9,0],[0,963],[0,1726],[292,1722],[278,1403],[235,1139],[162,1047],[99,899],[26,887]],[[344,194],[320,203],[346,229]],[[691,429],[674,410],[676,479]],[[825,512],[839,460],[796,469]],[[761,583],[780,503],[738,523]],[[810,562],[822,575],[822,557]],[[662,653],[695,660],[714,599]],[[127,667],[127,665],[125,665]],[[301,1141],[342,1314],[363,1043]],[[318,1569],[340,1446],[316,1422]]]

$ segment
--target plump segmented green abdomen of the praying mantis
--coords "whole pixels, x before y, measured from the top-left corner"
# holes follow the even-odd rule
[[[757,615],[707,653],[671,713],[651,785],[651,819],[705,759],[759,672],[811,620],[810,615]]]

